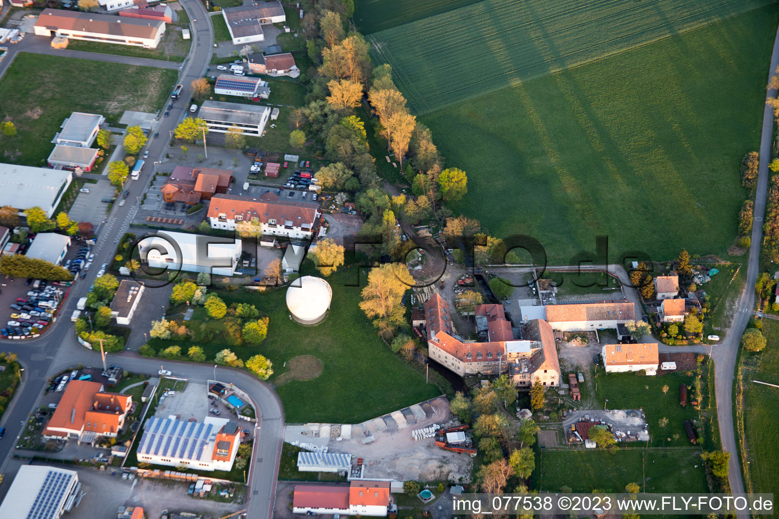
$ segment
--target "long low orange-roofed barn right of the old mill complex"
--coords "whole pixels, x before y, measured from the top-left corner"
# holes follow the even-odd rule
[[[635,305],[624,301],[546,305],[546,320],[552,329],[560,331],[616,329],[617,324],[635,318]]]

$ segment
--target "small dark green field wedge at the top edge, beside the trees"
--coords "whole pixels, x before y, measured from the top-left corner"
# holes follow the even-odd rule
[[[363,34],[375,33],[476,2],[479,0],[356,0],[354,23]]]

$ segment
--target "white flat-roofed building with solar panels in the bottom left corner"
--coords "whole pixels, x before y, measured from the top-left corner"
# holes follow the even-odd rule
[[[72,510],[80,489],[76,471],[47,465],[22,465],[0,504],[0,517],[59,519]]]

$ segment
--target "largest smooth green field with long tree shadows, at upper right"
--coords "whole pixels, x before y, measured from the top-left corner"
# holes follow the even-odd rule
[[[453,211],[535,237],[552,265],[597,235],[612,259],[724,254],[777,18],[770,5],[421,117],[446,165],[467,171]]]

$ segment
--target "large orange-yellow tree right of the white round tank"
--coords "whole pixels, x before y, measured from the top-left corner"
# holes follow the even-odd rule
[[[368,285],[362,289],[360,308],[370,317],[387,317],[406,290],[414,286],[414,279],[406,265],[385,263],[368,272]]]

